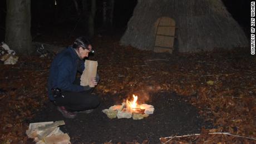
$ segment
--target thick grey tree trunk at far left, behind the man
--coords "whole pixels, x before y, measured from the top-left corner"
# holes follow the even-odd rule
[[[21,54],[31,54],[31,1],[7,0],[6,43]]]

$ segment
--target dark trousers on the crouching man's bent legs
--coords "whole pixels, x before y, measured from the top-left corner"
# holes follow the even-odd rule
[[[99,82],[99,76],[96,77]],[[74,84],[80,85],[80,78]],[[64,106],[68,111],[83,111],[96,108],[100,105],[99,96],[92,94],[94,88],[82,92],[62,91],[63,96],[56,98],[55,105]]]

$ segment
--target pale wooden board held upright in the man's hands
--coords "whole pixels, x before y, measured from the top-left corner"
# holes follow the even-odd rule
[[[90,60],[85,61],[85,70],[82,73],[81,82],[80,82],[81,86],[94,87],[94,85],[91,85],[90,81],[92,77],[96,77],[97,66],[98,66],[97,61],[90,61]]]

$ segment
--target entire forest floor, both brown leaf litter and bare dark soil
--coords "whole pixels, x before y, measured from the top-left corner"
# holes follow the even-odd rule
[[[29,143],[31,122],[65,120],[61,130],[72,143],[256,143],[256,57],[248,49],[229,52],[169,54],[120,46],[119,37],[93,39],[101,81],[95,92],[101,105],[87,115],[63,118],[47,98],[52,57],[19,56],[0,64],[0,143]],[[49,40],[51,39],[51,40]],[[58,39],[62,39],[61,41]],[[59,46],[74,37],[43,37]],[[154,105],[143,120],[109,120],[101,110],[135,93]],[[214,134],[229,132],[236,136]],[[199,136],[178,137],[200,133]],[[164,138],[168,136],[175,136]],[[243,136],[243,137],[238,137]],[[250,138],[248,138],[250,137]],[[168,142],[167,142],[168,141]]]

